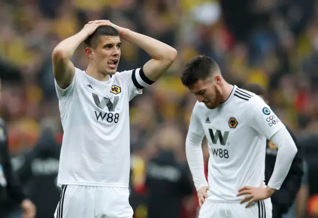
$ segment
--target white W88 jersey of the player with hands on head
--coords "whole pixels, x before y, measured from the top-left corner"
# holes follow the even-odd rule
[[[117,72],[99,81],[76,68],[65,90],[55,81],[64,130],[59,186],[128,187],[129,101],[142,93],[140,72]]]

